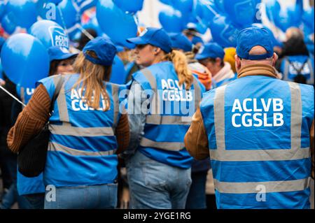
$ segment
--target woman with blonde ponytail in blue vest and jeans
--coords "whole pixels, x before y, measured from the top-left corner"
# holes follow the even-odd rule
[[[130,146],[125,152],[130,208],[185,208],[193,158],[183,145],[204,87],[188,70],[186,56],[172,50],[164,29],[139,37],[128,96]]]

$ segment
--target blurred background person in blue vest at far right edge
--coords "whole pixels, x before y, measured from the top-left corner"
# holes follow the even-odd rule
[[[307,50],[302,31],[291,27],[286,31],[286,38],[276,66],[282,79],[314,85],[314,57]]]

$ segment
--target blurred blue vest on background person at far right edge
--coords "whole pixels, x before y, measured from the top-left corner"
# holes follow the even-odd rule
[[[314,59],[306,55],[284,57],[280,71],[283,80],[293,81],[297,74],[304,75],[308,85],[314,85]]]

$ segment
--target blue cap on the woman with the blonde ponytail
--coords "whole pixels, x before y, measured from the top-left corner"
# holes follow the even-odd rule
[[[138,37],[127,38],[128,43],[136,45],[151,44],[169,53],[172,51],[172,42],[164,29],[148,27]]]

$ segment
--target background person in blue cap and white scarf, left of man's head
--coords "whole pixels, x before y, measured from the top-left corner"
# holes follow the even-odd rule
[[[200,48],[195,59],[209,69],[212,75],[212,87],[220,87],[237,78],[231,65],[224,62],[225,52],[218,43],[207,43]]]

